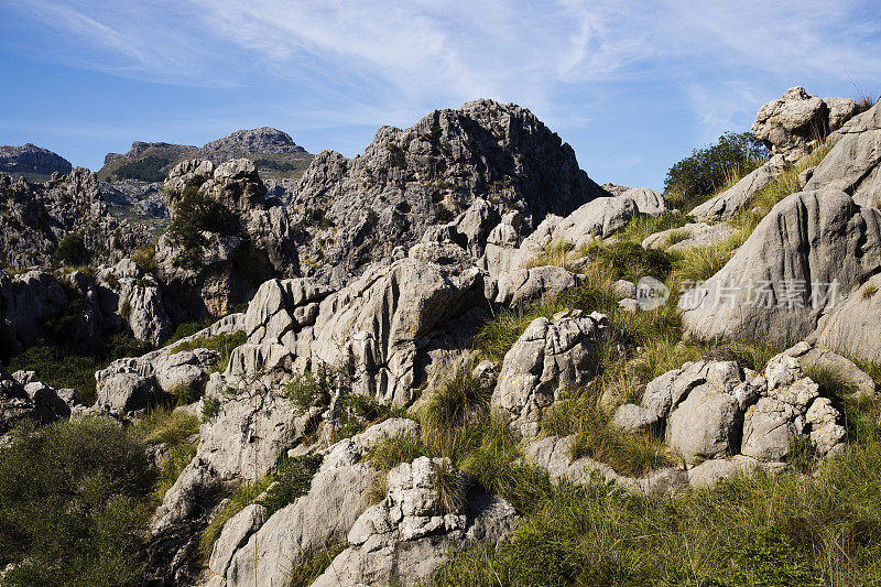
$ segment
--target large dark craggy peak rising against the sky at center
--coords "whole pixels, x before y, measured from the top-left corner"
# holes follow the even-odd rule
[[[340,285],[475,198],[491,208],[489,231],[509,210],[529,230],[601,195],[572,148],[529,110],[478,100],[436,110],[406,130],[383,127],[356,159],[316,155],[291,210],[304,274]]]

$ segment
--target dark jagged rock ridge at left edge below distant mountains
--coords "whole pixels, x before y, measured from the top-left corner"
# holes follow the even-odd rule
[[[0,175],[0,261],[48,265],[61,240],[81,238],[79,263],[116,262],[150,240],[146,230],[108,214],[95,174],[77,167],[45,183]]]

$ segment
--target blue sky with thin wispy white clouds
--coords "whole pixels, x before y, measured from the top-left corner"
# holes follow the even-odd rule
[[[260,126],[351,156],[488,97],[530,108],[592,178],[659,188],[790,86],[881,93],[881,19],[849,0],[0,0],[0,144],[93,170],[134,140]]]

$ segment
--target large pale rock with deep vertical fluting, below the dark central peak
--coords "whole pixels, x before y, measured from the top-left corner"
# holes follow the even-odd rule
[[[486,304],[477,268],[453,272],[415,259],[372,267],[320,304],[312,368],[348,369],[355,393],[405,404],[432,349],[464,349]]]

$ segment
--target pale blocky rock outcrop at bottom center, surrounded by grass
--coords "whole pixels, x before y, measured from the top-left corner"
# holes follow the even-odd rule
[[[313,584],[404,585],[426,580],[463,541],[498,545],[518,520],[504,500],[468,500],[466,480],[448,459],[420,457],[388,475],[385,499],[356,520],[349,547]]]

